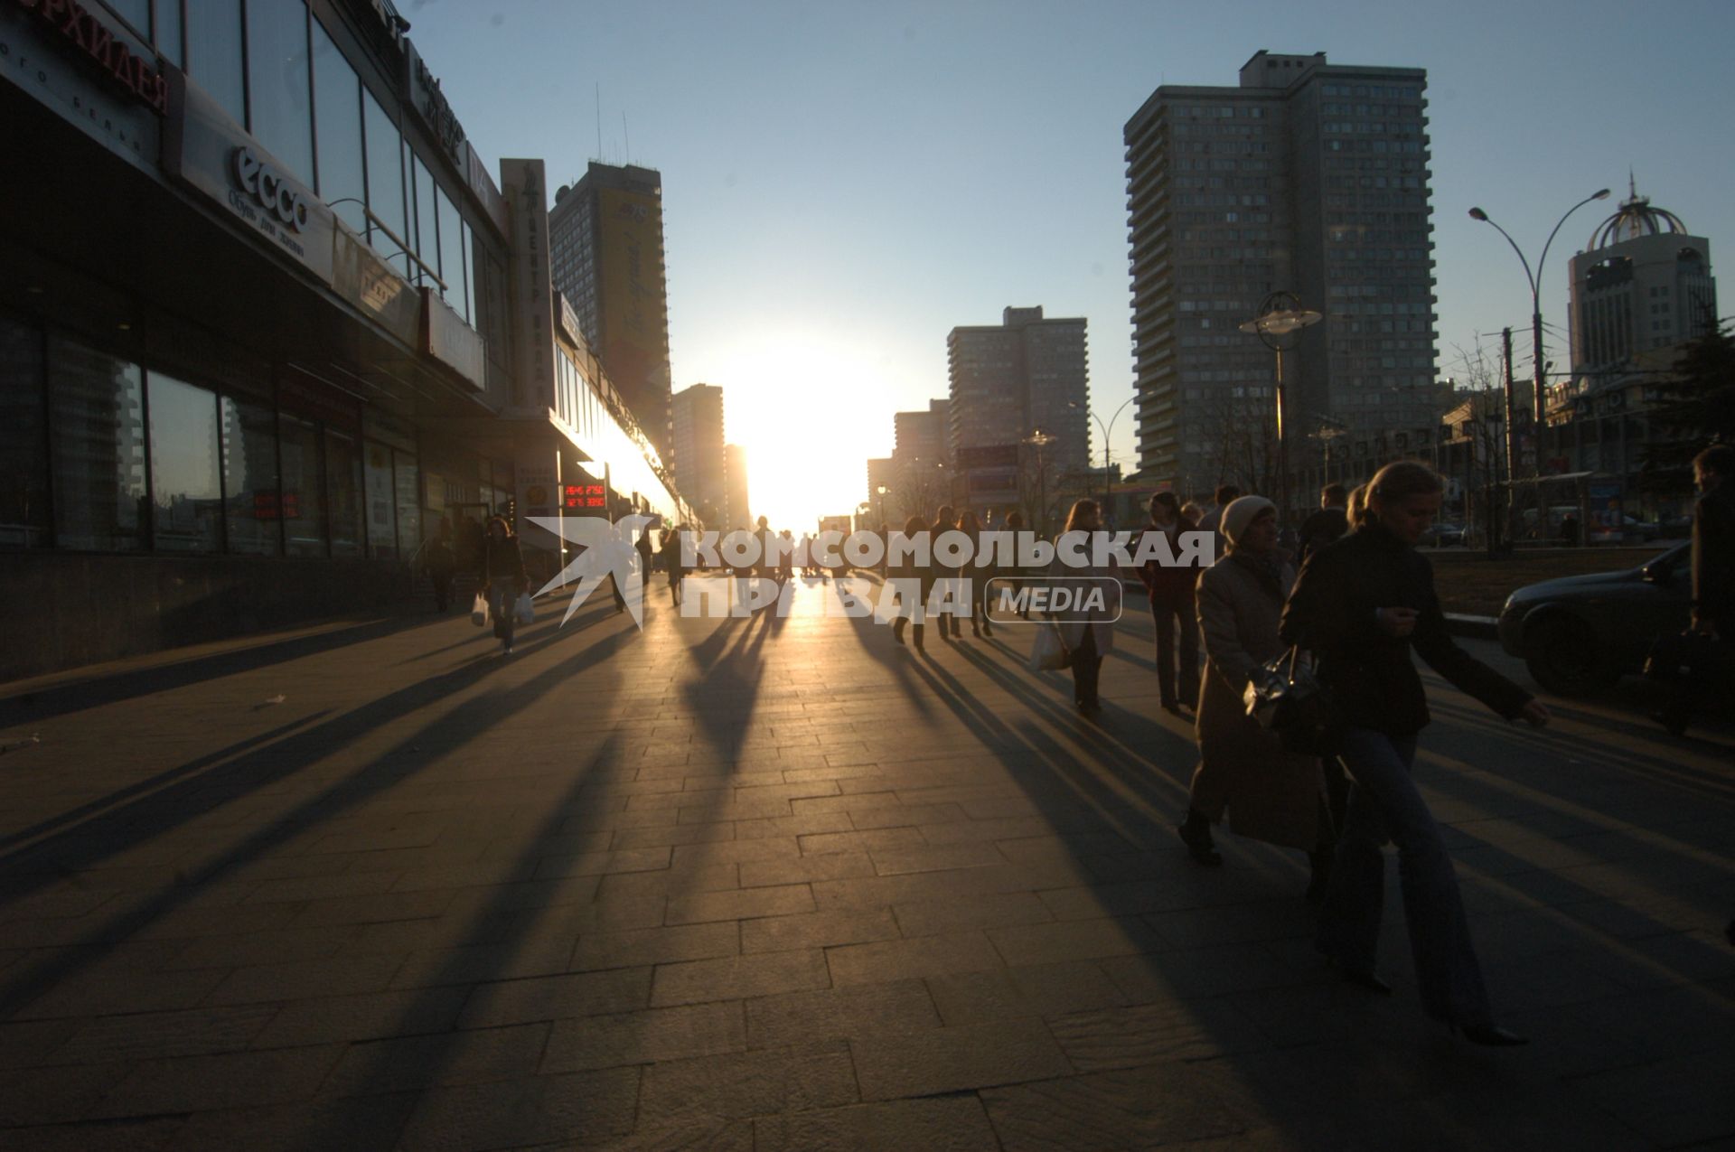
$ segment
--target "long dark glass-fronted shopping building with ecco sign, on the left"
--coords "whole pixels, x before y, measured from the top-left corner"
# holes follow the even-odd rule
[[[678,514],[547,283],[540,165],[496,186],[406,29],[0,7],[0,677],[404,599],[441,520],[467,559],[496,512]]]

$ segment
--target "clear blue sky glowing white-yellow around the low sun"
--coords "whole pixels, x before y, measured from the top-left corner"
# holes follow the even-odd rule
[[[501,156],[552,187],[590,160],[661,170],[675,389],[722,385],[779,526],[852,512],[892,413],[946,396],[946,333],[1006,305],[1088,319],[1091,411],[1121,413],[1136,468],[1121,130],[1260,49],[1428,69],[1438,376],[1503,324],[1529,373],[1530,286],[1473,205],[1534,265],[1615,189],[1548,252],[1558,366],[1567,259],[1629,170],[1712,264],[1735,243],[1728,0],[397,3],[496,179]]]

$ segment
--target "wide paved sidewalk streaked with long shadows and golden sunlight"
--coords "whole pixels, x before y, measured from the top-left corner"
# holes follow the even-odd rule
[[[1534,1037],[1489,1051],[1423,1018],[1395,876],[1385,999],[1313,954],[1301,854],[1187,861],[1149,618],[1090,722],[1020,626],[916,658],[833,585],[658,593],[512,658],[429,616],[0,687],[0,1147],[1735,1142],[1726,723],[1430,680]]]

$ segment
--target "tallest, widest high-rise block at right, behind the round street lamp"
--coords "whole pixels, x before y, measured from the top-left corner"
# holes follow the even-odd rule
[[[1260,50],[1239,87],[1162,85],[1128,120],[1145,479],[1256,479],[1225,441],[1275,415],[1272,350],[1237,328],[1272,291],[1326,316],[1284,357],[1293,470],[1322,418],[1433,422],[1426,83],[1419,68]]]

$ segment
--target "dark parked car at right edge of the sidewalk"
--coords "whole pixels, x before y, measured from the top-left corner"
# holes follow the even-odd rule
[[[1650,645],[1688,623],[1692,545],[1620,573],[1525,585],[1499,616],[1501,647],[1556,696],[1584,696],[1645,664]]]

